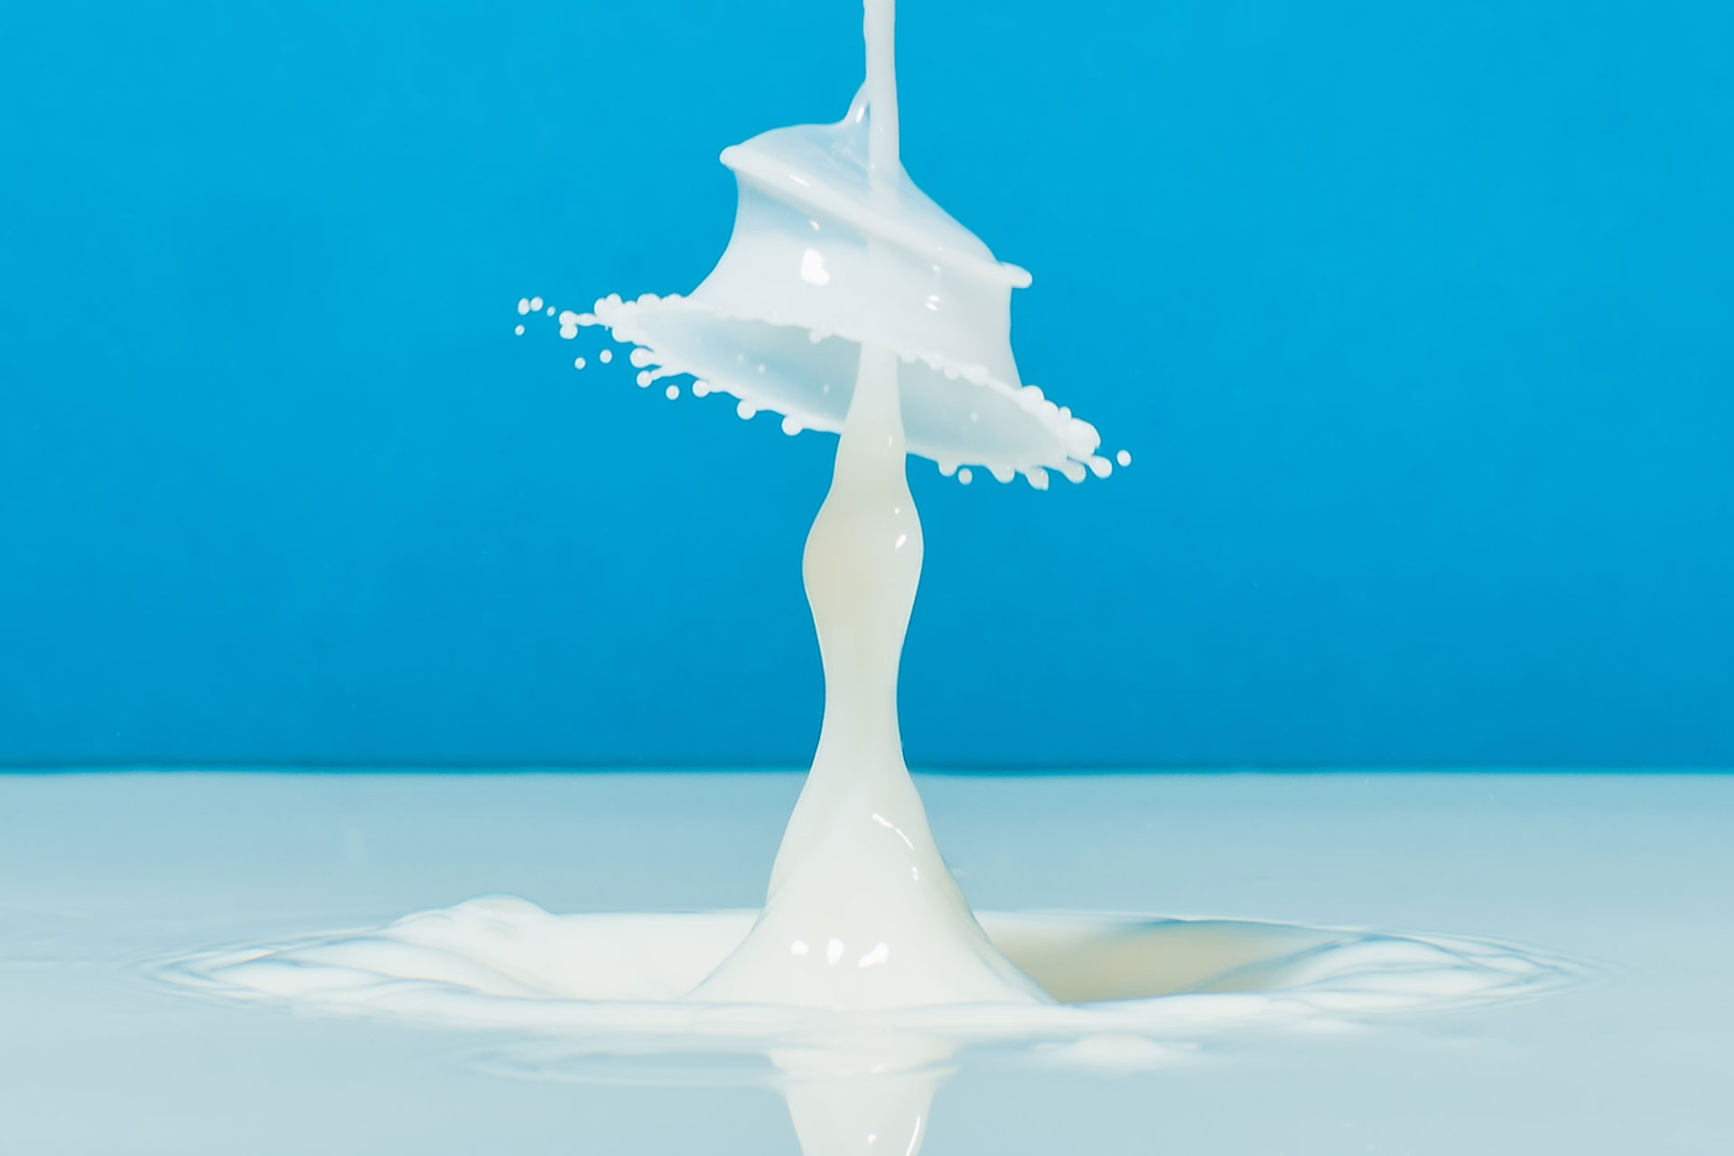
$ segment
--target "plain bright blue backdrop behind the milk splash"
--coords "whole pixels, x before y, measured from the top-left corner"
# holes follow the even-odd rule
[[[1734,764],[1734,5],[905,0],[905,159],[1129,447],[962,489],[917,764]],[[801,763],[834,442],[574,373],[848,0],[10,5],[0,763]]]

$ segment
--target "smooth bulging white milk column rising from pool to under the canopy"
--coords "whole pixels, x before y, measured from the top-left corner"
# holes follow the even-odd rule
[[[921,581],[896,357],[865,347],[801,574],[825,669],[818,752],[765,913],[695,1000],[818,1007],[1035,1002],[988,941],[903,764],[896,672]]]

